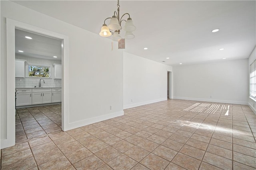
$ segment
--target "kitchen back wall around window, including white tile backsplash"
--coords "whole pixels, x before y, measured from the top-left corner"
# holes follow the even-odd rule
[[[16,59],[26,60],[26,76],[28,76],[28,63],[37,64],[37,65],[48,65],[50,66],[50,78],[44,78],[45,83],[42,84],[42,87],[56,87],[61,88],[61,79],[53,79],[54,68],[53,64],[61,64],[61,60],[54,59],[42,59],[36,57],[28,57],[24,55],[15,55]],[[43,77],[26,77],[26,78],[15,78],[15,88],[24,88],[24,87],[39,87],[39,79]]]

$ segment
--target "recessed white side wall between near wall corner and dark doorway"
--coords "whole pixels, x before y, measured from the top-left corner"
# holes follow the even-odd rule
[[[124,52],[124,109],[167,100],[167,71],[172,67]]]

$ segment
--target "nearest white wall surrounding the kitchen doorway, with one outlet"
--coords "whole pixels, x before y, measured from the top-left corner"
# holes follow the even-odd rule
[[[117,49],[116,43],[111,51],[111,40],[108,38],[14,2],[0,3],[1,142],[7,138],[6,97],[11,95],[6,93],[6,18],[68,36],[69,46],[65,47],[69,52],[68,129],[123,115],[123,54]]]

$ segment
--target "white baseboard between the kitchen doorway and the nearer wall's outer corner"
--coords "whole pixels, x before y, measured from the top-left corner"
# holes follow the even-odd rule
[[[81,120],[81,121],[72,122],[72,123],[68,124],[65,131],[66,130],[71,130],[71,129],[74,129],[74,128],[78,128],[78,127],[83,127],[83,126],[86,126],[86,125],[90,125],[92,123],[105,121],[107,119],[112,119],[114,117],[123,116],[123,115],[124,115],[124,111],[119,111],[119,112],[110,113],[110,114],[107,114],[107,115],[102,115],[102,116],[98,116],[98,117],[92,117],[92,118],[89,118],[89,119],[84,119],[84,120]]]

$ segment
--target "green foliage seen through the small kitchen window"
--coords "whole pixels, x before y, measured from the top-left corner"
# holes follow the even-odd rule
[[[50,77],[50,67],[40,67],[40,66],[28,66],[28,76],[29,77]]]

